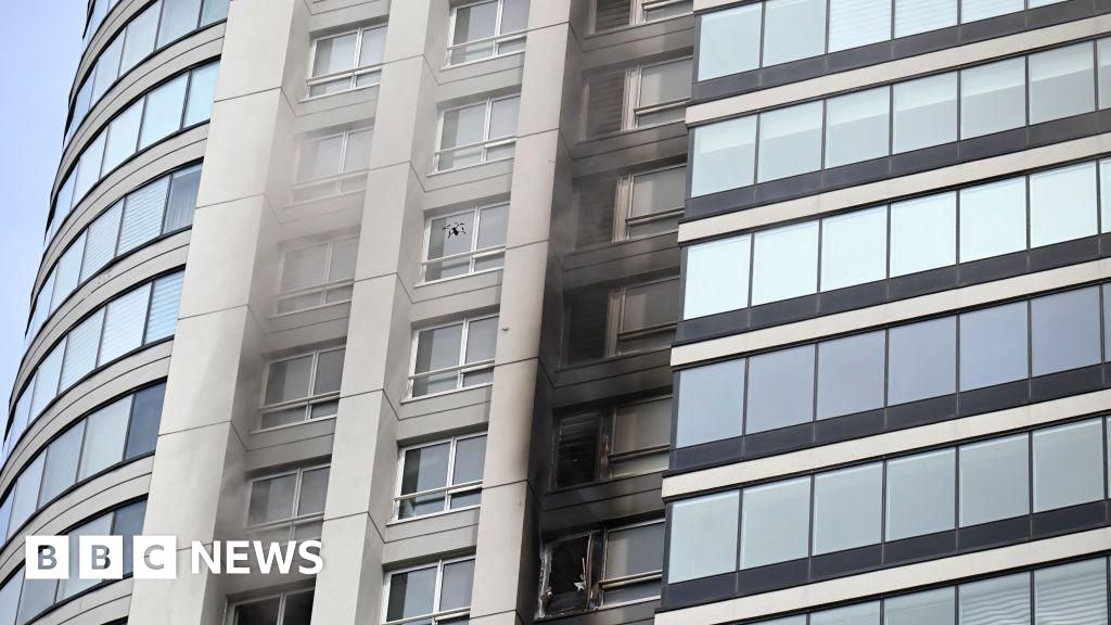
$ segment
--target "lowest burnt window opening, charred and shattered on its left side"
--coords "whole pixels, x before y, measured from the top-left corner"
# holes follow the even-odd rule
[[[540,616],[654,601],[663,569],[663,519],[558,538],[542,557]]]

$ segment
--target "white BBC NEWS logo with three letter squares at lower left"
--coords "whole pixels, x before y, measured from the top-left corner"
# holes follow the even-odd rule
[[[136,578],[178,577],[176,536],[134,536],[131,547],[131,572]],[[298,573],[316,575],[324,565],[320,557],[320,540],[216,540],[211,546],[194,540],[189,546],[189,553],[193,575],[202,571],[230,575],[252,571],[287,575],[293,569],[294,560],[298,560]],[[127,557],[123,536],[78,536],[77,553],[71,553],[68,536],[28,536],[24,556],[28,579],[67,579],[70,577],[71,560],[77,563],[81,579],[121,579]]]

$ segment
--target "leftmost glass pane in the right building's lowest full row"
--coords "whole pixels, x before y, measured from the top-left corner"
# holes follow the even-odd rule
[[[721,493],[671,504],[668,583],[737,569],[740,493]]]

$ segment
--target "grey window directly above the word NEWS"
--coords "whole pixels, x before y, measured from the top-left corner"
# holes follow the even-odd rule
[[[247,526],[262,540],[320,537],[330,467],[299,468],[251,480]]]

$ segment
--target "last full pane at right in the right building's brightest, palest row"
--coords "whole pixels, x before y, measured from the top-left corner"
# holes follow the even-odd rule
[[[1030,247],[1099,234],[1095,163],[1030,176]]]

